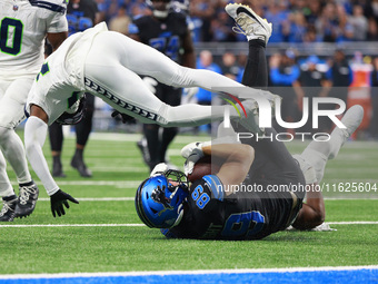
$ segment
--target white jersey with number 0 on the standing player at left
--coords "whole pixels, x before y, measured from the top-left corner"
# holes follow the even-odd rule
[[[66,0],[0,1],[0,78],[37,75],[44,37],[68,31]]]

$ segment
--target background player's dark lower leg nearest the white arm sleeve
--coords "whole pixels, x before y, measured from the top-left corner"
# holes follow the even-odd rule
[[[63,173],[63,166],[61,164],[61,151],[63,148],[63,129],[58,123],[53,123],[49,126],[50,149],[52,156],[52,176],[66,177]]]

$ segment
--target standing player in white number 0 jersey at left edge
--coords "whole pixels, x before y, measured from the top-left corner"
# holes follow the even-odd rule
[[[67,38],[67,3],[62,0],[1,0],[0,2],[0,222],[32,213],[38,187],[28,169],[14,127],[24,119],[24,104],[43,63],[44,38],[53,49]],[[17,197],[6,172],[6,159],[19,183]]]

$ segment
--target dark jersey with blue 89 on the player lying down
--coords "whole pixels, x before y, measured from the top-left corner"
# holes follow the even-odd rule
[[[182,221],[161,229],[162,234],[169,238],[259,239],[285,229],[292,216],[288,192],[240,190],[226,196],[227,190],[216,175],[195,182]]]

